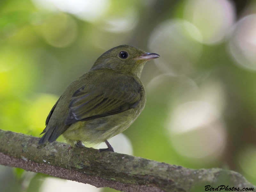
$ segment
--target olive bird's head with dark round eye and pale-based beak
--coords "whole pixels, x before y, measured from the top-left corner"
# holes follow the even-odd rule
[[[143,52],[131,45],[119,45],[100,55],[91,70],[111,69],[140,77],[144,64],[158,57],[156,53]]]

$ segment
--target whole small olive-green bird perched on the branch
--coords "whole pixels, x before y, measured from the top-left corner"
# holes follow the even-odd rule
[[[146,102],[140,81],[144,64],[160,57],[131,45],[119,45],[103,53],[89,72],[73,81],[46,118],[38,144],[55,141],[61,134],[70,148],[103,141],[123,132],[140,115]]]

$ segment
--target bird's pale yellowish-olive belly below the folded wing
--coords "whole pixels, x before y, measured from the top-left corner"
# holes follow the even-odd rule
[[[134,108],[111,116],[100,117],[72,124],[63,137],[71,146],[77,140],[85,143],[101,143],[127,129],[139,116],[142,108]]]

